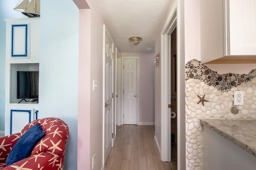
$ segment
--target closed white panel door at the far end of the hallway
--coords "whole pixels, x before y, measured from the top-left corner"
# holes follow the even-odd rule
[[[124,59],[124,124],[137,125],[137,59]]]

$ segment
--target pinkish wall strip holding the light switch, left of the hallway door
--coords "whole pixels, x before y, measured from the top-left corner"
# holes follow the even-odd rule
[[[98,9],[96,1],[88,1],[91,9],[91,54],[90,54],[90,169],[91,160],[96,155],[96,166],[94,169],[101,169],[103,165],[103,25],[104,19]],[[87,73],[85,72],[84,75]],[[92,80],[97,80],[98,90],[92,91]],[[88,114],[88,113],[84,113]],[[86,137],[85,137],[86,138]],[[88,151],[87,151],[88,152]]]

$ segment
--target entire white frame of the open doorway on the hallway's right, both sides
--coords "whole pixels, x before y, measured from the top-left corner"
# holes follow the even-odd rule
[[[176,23],[177,26],[177,168],[178,170],[184,170],[186,168],[186,109],[185,109],[185,35],[184,35],[184,0],[175,1],[174,6],[168,16],[166,23],[161,32],[161,53],[162,53],[162,64],[161,67],[161,83],[163,84],[163,89],[161,86],[161,100],[166,100],[165,97],[167,94],[165,83],[166,83],[166,74],[168,68],[166,67],[167,55],[166,51],[168,50],[168,41],[167,37],[171,27]],[[178,8],[178,10],[177,10]],[[177,20],[178,18],[178,20]],[[176,21],[175,21],[176,20]],[[165,103],[166,104],[166,103]],[[164,120],[163,112],[165,110],[165,104],[161,104],[161,160],[168,161],[168,139],[166,138],[166,128],[168,127],[166,121]],[[167,126],[166,126],[167,125]],[[168,135],[167,135],[168,137]]]

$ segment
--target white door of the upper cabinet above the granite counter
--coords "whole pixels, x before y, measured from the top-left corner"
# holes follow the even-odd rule
[[[230,54],[256,55],[256,0],[228,0]]]

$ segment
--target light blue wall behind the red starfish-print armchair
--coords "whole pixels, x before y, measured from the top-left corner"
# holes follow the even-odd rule
[[[77,169],[79,11],[72,0],[41,0],[39,117],[64,120],[64,170]]]

